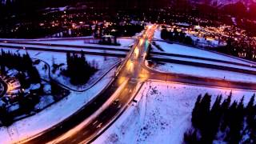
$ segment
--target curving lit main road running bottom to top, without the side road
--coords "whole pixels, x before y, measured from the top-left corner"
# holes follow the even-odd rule
[[[152,37],[152,34],[154,34],[154,29],[150,29],[150,33]],[[140,53],[141,55],[139,55],[138,50],[146,50],[145,47],[147,46],[145,46],[145,43],[147,43],[147,45],[149,44],[149,42],[146,42],[145,39],[141,39],[132,48],[126,57],[126,60],[122,63],[117,78],[115,78],[114,82],[112,82],[112,84],[108,86],[105,91],[102,91],[102,93],[98,95],[98,97],[95,98],[93,102],[90,102],[78,114],[73,115],[72,118],[68,118],[58,126],[54,126],[54,128],[48,130],[45,134],[42,134],[27,143],[46,143],[50,141],[54,142],[54,140],[58,141],[58,139],[62,138],[63,134],[69,130],[72,130],[72,128],[77,126],[83,120],[86,120],[86,118],[90,117],[91,114],[94,114],[94,112],[98,110],[103,105],[103,103],[112,96],[112,94],[114,94],[115,90],[117,90],[118,87],[128,79],[129,81],[127,82],[124,89],[121,90],[121,94],[118,94],[118,97],[116,98],[118,99],[118,104],[112,102],[110,106],[106,108],[106,110],[103,110],[97,118],[88,123],[88,125],[83,127],[82,130],[79,130],[77,133],[70,135],[69,138],[64,139],[58,143],[78,143],[90,141],[93,139],[94,134],[97,134],[98,130],[100,130],[99,128],[106,126],[108,122],[110,122],[111,119],[120,112],[119,110],[122,110],[122,107],[126,106],[126,103],[129,103],[129,100],[131,99],[130,95],[135,92],[135,86],[137,86],[138,83],[137,78],[140,77],[139,74],[141,73],[139,66],[144,62],[144,57],[142,57],[144,51],[142,51],[142,53]],[[135,66],[138,66],[138,68]]]

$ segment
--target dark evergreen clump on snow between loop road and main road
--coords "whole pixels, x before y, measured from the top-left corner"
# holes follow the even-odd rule
[[[90,76],[97,71],[96,63],[90,64],[86,61],[86,56],[82,51],[81,54],[66,54],[67,68],[64,74],[70,77],[73,85],[82,85],[86,83]]]

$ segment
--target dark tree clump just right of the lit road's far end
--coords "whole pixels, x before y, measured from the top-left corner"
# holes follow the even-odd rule
[[[161,31],[161,38],[169,40],[170,42],[181,42],[186,45],[194,45],[192,38],[186,36],[186,33],[183,33],[182,31],[178,32],[177,28],[174,28],[174,31],[171,31],[167,30],[166,27],[163,27]]]

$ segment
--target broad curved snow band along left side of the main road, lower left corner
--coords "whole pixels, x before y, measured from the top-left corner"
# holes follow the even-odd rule
[[[95,95],[99,94],[110,82],[111,78],[113,78],[113,75],[114,70],[89,90],[81,93],[71,92],[69,96],[63,98],[60,102],[34,116],[14,122],[9,127],[0,127],[0,143],[14,143],[30,138],[58,124],[58,122],[62,122],[65,118],[68,118],[75,111],[82,108]]]

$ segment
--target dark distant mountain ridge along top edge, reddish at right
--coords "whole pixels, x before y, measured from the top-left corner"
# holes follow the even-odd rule
[[[76,6],[78,2],[90,3],[90,6],[114,9],[141,9],[161,8],[173,6],[174,8],[201,6],[209,10],[218,9],[231,15],[250,15],[256,18],[256,0],[0,0],[6,10],[42,10],[46,7]],[[1,7],[0,7],[1,8]],[[1,11],[1,10],[0,10]]]

